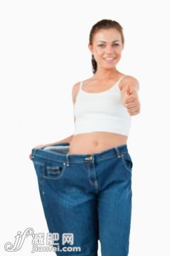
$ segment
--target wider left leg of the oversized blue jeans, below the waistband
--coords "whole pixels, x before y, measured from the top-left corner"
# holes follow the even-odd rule
[[[60,249],[80,247],[80,252],[56,254],[97,256],[97,198],[88,180],[87,166],[80,163],[62,167],[51,160],[38,161],[34,160],[34,167],[48,230],[59,233]],[[63,245],[63,234],[73,234],[73,245]]]

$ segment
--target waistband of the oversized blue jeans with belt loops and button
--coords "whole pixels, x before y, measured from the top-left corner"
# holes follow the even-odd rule
[[[69,165],[69,162],[93,162],[94,160],[100,161],[110,157],[121,157],[121,154],[128,152],[127,144],[112,147],[94,154],[68,154],[69,147],[70,143],[64,142],[60,144],[53,144],[53,146],[50,147],[51,149],[48,149],[48,151],[46,147],[42,147],[41,149],[33,148],[31,156],[32,159],[37,156],[56,162],[66,162],[66,164]]]

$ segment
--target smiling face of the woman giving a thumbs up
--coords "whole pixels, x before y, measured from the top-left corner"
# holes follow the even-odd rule
[[[100,29],[88,47],[97,61],[97,67],[115,68],[123,49],[121,34],[117,29]]]

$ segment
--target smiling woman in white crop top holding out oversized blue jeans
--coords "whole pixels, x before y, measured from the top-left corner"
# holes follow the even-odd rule
[[[125,256],[132,210],[127,138],[131,117],[140,111],[139,82],[117,70],[124,49],[117,21],[92,26],[88,47],[93,76],[73,86],[75,134],[38,145],[30,158],[50,232],[73,233],[74,245],[81,247],[65,255],[96,256],[99,239],[103,256]]]

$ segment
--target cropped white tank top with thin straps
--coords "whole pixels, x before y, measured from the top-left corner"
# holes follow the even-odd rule
[[[83,82],[80,82],[74,104],[75,134],[113,132],[128,136],[131,116],[120,100],[119,90],[119,82],[123,77],[110,89],[97,93],[83,91]]]

